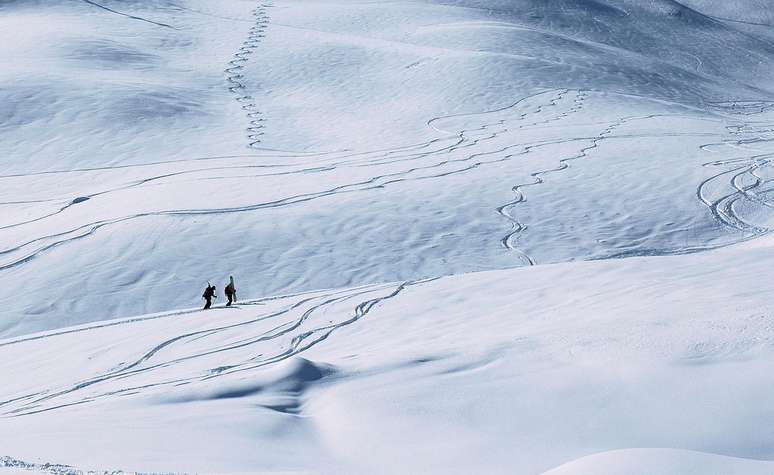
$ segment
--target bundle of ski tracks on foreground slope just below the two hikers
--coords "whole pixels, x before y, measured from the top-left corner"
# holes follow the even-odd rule
[[[21,396],[15,396],[5,401],[1,401],[0,410],[3,413],[3,417],[19,417],[46,412],[62,407],[85,404],[112,396],[142,394],[143,390],[158,388],[160,386],[181,385],[195,381],[208,381],[236,372],[256,370],[258,368],[286,360],[292,356],[298,355],[308,350],[309,348],[312,348],[318,343],[325,341],[333,332],[339,328],[351,325],[365,317],[375,306],[398,296],[409,287],[421,285],[431,280],[435,279],[408,281],[398,285],[376,284],[355,289],[329,291],[319,295],[302,294],[300,296],[301,298],[298,300],[269,314],[259,314],[256,317],[248,320],[199,331],[187,332],[171,338],[166,338],[154,345],[134,361],[121,363],[110,371],[81,381],[77,381],[64,388],[44,389],[40,392],[28,393]],[[326,316],[326,318],[323,319],[326,320],[323,324],[315,325],[313,322],[309,323],[314,319],[315,314],[319,313],[320,311],[323,311],[326,308],[330,308],[332,305],[342,304],[356,299],[362,300],[354,305],[354,308],[349,315],[343,315],[342,318],[338,321],[335,321],[334,319],[331,322],[327,322],[330,316]],[[248,303],[240,305],[249,306],[254,304],[255,303]],[[166,316],[181,315],[184,315],[184,313]],[[249,335],[250,327],[252,325],[262,323],[267,320],[279,320],[283,316],[289,316],[290,319],[287,321],[282,321],[269,330],[259,331],[254,335],[245,336]],[[131,323],[133,321],[138,320],[125,321],[121,323]],[[307,323],[308,325],[305,325]],[[105,328],[107,326],[110,326],[110,323],[103,325],[93,325],[91,327],[82,328],[77,331],[87,332],[94,329]],[[240,328],[240,338],[235,339],[234,341],[225,344],[215,344],[212,347],[195,351],[184,356],[176,356],[164,359],[165,351],[169,350],[173,346],[178,348],[178,351],[180,351],[181,347],[184,350],[186,343],[191,343],[202,338],[215,336],[227,330],[232,330],[238,327]],[[53,338],[67,333],[70,332],[44,335],[38,338]],[[18,341],[6,343],[6,345],[21,344],[26,341],[30,341],[30,339],[21,339]],[[269,350],[268,353],[260,351],[261,343],[266,342],[279,342],[278,348],[267,348],[267,350]],[[244,350],[248,348],[254,348],[249,353],[257,353],[257,356],[249,356],[245,358],[240,357],[240,354],[242,353],[229,353],[235,350]],[[204,358],[214,354],[222,355],[221,359],[219,360],[219,366],[217,368],[197,368],[196,371],[193,371],[195,374],[187,375],[185,377],[164,379],[162,376],[158,380],[153,380],[154,370],[168,368],[170,366]],[[229,357],[233,358],[233,360],[228,361]],[[206,363],[204,364],[206,365]],[[132,384],[132,382],[138,380],[138,376],[144,377],[144,379],[142,379],[143,384]],[[151,379],[151,382],[148,382],[148,379]],[[104,388],[102,391],[93,390],[93,386],[102,383],[112,385],[120,384],[122,387],[119,389]],[[92,388],[89,394],[76,397],[87,388]]]

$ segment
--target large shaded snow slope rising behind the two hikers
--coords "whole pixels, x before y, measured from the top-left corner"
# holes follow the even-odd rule
[[[2,7],[3,335],[770,219],[771,43],[674,2],[103,6]]]

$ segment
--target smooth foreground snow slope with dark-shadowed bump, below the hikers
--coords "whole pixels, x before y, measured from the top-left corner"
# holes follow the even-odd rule
[[[6,340],[0,447],[142,472],[766,473],[772,245]]]

